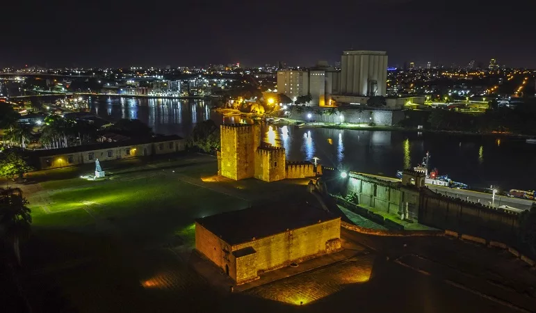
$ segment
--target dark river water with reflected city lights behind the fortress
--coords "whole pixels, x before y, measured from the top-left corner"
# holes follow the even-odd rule
[[[223,122],[202,100],[90,97],[89,103],[101,118],[138,118],[157,134],[186,137],[197,122]],[[289,161],[318,157],[325,166],[395,177],[430,152],[430,168],[472,187],[536,188],[536,145],[521,138],[291,126],[265,126],[263,132],[265,141],[286,149]]]

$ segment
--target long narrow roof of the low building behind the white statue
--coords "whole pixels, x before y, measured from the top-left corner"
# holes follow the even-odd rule
[[[51,157],[58,154],[69,154],[75,152],[84,152],[92,150],[108,149],[113,147],[129,147],[144,143],[162,143],[164,141],[176,141],[182,139],[181,136],[153,136],[145,138],[129,139],[126,141],[115,141],[111,143],[94,143],[92,145],[75,145],[73,147],[64,147],[59,149],[33,150],[30,151],[32,157]]]

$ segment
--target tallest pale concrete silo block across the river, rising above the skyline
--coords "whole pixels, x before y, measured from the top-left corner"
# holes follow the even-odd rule
[[[342,95],[382,95],[387,90],[387,52],[343,51],[341,57]]]

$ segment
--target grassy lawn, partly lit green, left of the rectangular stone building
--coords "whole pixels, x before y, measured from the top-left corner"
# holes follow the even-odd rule
[[[149,312],[156,302],[193,300],[206,289],[187,264],[193,222],[249,206],[234,195],[241,189],[202,181],[216,173],[213,157],[102,166],[107,179],[97,181],[80,178],[91,165],[29,175],[33,225],[22,282],[31,303],[40,312]]]

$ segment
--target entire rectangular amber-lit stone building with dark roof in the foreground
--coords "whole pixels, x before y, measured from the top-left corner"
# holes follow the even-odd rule
[[[195,220],[195,249],[236,284],[341,249],[341,218],[310,203],[277,203]]]

